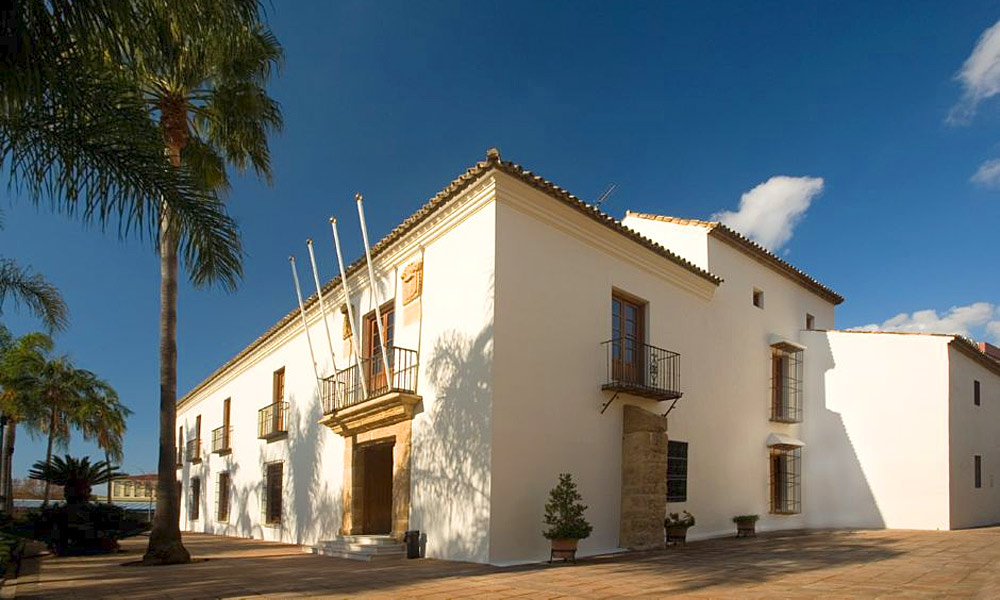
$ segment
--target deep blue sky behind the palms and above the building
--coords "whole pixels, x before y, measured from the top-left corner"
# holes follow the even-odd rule
[[[331,214],[344,221],[346,258],[360,255],[354,191],[374,240],[490,146],[584,199],[618,184],[602,207],[618,217],[710,218],[772,177],[813,182],[744,222],[780,221],[794,205],[777,250],[846,296],[838,326],[1000,341],[1000,191],[991,172],[970,180],[1000,158],[1000,102],[989,69],[956,78],[998,19],[987,2],[277,5],[287,62],[272,86],[285,114],[274,185],[238,178],[229,197],[247,249],[239,291],[181,289],[179,390],[294,306],[287,257],[305,258],[305,238],[333,276]],[[949,122],[970,99],[981,100],[974,114]],[[769,190],[751,203],[767,209]],[[2,253],[62,290],[72,323],[60,349],[135,411],[125,468],[155,469],[152,248],[0,193]],[[15,333],[38,327],[6,308]],[[913,315],[922,310],[935,312]],[[15,474],[43,452],[21,436]]]

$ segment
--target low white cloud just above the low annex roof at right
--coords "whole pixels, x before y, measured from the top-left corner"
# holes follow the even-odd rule
[[[918,333],[951,333],[973,339],[1000,341],[1000,306],[989,302],[974,302],[953,306],[944,314],[935,310],[899,313],[883,323],[854,327],[855,331],[905,331]]]

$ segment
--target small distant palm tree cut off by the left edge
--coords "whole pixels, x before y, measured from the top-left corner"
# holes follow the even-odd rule
[[[11,464],[17,426],[27,424],[33,431],[44,420],[45,409],[40,399],[25,393],[24,372],[39,364],[52,351],[52,338],[42,333],[29,333],[12,339],[6,328],[0,327],[0,413],[5,419],[3,438],[3,468],[0,471],[0,489],[3,490],[3,510],[8,514],[14,508]]]

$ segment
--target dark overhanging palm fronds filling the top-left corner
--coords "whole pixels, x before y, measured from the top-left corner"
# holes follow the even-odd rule
[[[155,45],[151,15],[168,0],[18,0],[0,10],[0,165],[36,205],[119,235],[155,238],[177,224],[196,283],[240,277],[239,234],[215,192],[171,169],[162,136],[123,67]],[[185,26],[220,13],[257,17],[252,0],[168,2]]]

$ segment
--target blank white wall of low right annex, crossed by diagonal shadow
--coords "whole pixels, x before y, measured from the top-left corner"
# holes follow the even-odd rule
[[[808,526],[948,529],[950,340],[803,334]]]

